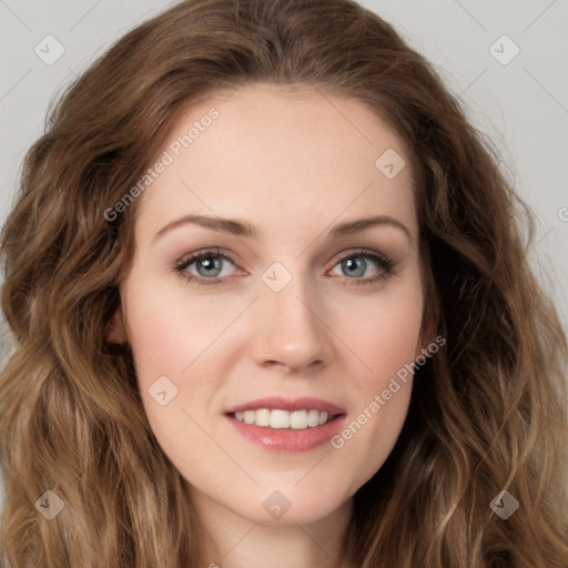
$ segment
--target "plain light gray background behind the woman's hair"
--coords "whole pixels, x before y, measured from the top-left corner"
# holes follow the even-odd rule
[[[469,119],[501,151],[504,168],[537,215],[530,261],[568,329],[568,0],[361,3],[435,63]],[[0,0],[0,223],[53,94],[124,32],[168,6]],[[499,39],[504,34],[510,40]],[[47,36],[64,48],[52,64],[34,52],[39,45],[43,57],[57,53]],[[511,59],[515,45],[520,51]]]

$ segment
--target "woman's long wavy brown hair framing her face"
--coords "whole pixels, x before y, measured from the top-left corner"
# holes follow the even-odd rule
[[[527,258],[532,213],[430,64],[351,0],[183,1],[118,41],[52,110],[1,237],[16,341],[0,375],[3,560],[204,561],[131,352],[106,341],[140,200],[112,220],[104,212],[187,104],[255,81],[356,99],[404,138],[425,318],[446,338],[416,372],[392,454],[355,494],[342,561],[566,568],[568,345]],[[52,520],[34,507],[47,490],[64,505]],[[490,507],[504,490],[519,503],[507,519]]]

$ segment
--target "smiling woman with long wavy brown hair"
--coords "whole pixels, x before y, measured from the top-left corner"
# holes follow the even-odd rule
[[[6,564],[566,566],[531,231],[358,4],[143,23],[62,98],[3,229]]]

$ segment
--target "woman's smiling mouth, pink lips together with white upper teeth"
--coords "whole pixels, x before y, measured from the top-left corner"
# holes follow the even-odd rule
[[[263,398],[224,413],[247,442],[270,452],[306,452],[328,442],[346,412],[317,398]]]

